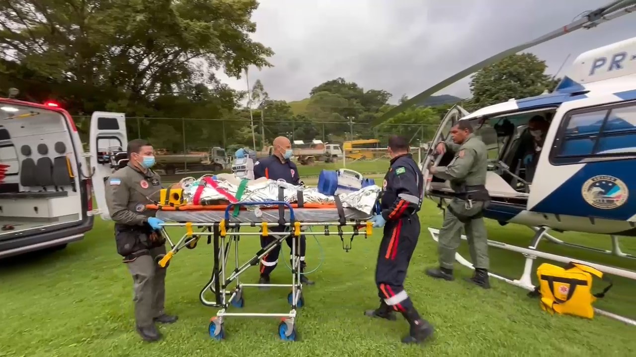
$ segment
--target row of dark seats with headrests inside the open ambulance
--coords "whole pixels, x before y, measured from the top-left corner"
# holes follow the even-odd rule
[[[64,143],[58,142],[56,146],[57,149],[66,151]],[[60,187],[64,185],[73,186],[73,182],[69,177],[66,156],[59,157],[64,159],[64,161],[59,158],[53,161],[48,157],[48,146],[43,143],[38,144],[37,150],[42,157],[38,161],[34,161],[31,146],[22,145],[20,147],[20,152],[25,156],[25,159],[20,163],[20,185],[25,187],[27,191],[0,193],[0,198],[56,198],[68,196],[68,191],[64,191],[63,187]],[[56,151],[59,152],[59,150]],[[62,163],[66,174],[62,174]]]

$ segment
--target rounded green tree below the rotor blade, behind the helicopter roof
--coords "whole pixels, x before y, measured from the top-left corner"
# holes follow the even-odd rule
[[[467,106],[472,110],[506,102],[510,98],[540,95],[556,85],[545,71],[546,62],[532,53],[511,55],[488,65],[471,77],[473,98]]]

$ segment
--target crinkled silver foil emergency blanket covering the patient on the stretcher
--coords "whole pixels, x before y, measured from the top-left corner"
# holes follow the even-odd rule
[[[209,175],[206,175],[209,177]],[[220,175],[219,175],[220,176]],[[233,175],[232,175],[233,177]],[[211,178],[210,178],[211,179]],[[240,182],[240,179],[233,180],[234,182]],[[239,191],[239,185],[233,184],[230,180],[218,179],[214,180],[220,190],[228,192],[233,197],[236,197]],[[183,198],[188,204],[192,204],[195,192],[200,185],[204,185],[204,189],[201,192],[200,199],[202,201],[225,201],[227,198],[224,194],[220,193],[217,189],[207,184],[204,177],[195,180],[192,177],[186,177],[179,182],[181,188],[183,188]],[[296,203],[298,191],[303,192],[304,203],[319,203],[319,204],[333,204],[335,203],[334,196],[327,196],[318,192],[315,187],[303,187],[293,184],[288,184],[283,180],[259,180],[251,181],[245,186],[243,195],[238,203],[259,203],[259,202],[271,202],[279,201],[279,187],[283,188],[284,201],[287,203]],[[361,213],[371,214],[373,206],[375,205],[378,194],[380,194],[380,187],[377,185],[370,185],[363,187],[362,189],[347,194],[340,194],[340,202],[343,208],[352,208],[360,211]],[[272,205],[263,205],[272,206]],[[247,206],[248,209],[254,208],[254,206]]]

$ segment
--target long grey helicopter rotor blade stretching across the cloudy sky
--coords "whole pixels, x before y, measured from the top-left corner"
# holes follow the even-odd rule
[[[513,48],[509,48],[508,50],[501,51],[492,57],[486,58],[485,60],[479,62],[478,64],[471,65],[471,67],[464,69],[464,71],[460,71],[453,74],[453,76],[450,76],[444,79],[443,81],[439,82],[438,84],[435,84],[431,88],[428,88],[422,93],[419,93],[415,97],[410,98],[409,100],[406,100],[406,102],[403,102],[397,105],[396,107],[393,107],[389,111],[385,112],[381,116],[378,116],[373,121],[371,121],[371,125],[375,126],[386,121],[392,116],[395,116],[396,114],[399,114],[403,112],[404,110],[408,109],[412,105],[421,103],[424,99],[430,97],[434,93],[437,93],[439,90],[442,90],[446,88],[447,86],[450,86],[450,84],[453,84],[459,81],[460,79],[466,76],[469,76],[469,74],[479,71],[480,69],[482,69],[483,67],[486,67],[487,65],[490,65],[499,60],[502,60],[503,58],[506,58],[510,55],[514,55],[515,53],[526,50],[527,48],[534,47],[537,44],[550,41],[551,39],[555,39],[556,37],[563,36],[565,34],[568,34],[570,32],[576,31],[581,28],[591,29],[593,27],[596,27],[598,24],[602,24],[603,22],[614,20],[614,18],[618,18],[628,13],[632,13],[633,11],[636,11],[636,0],[612,1],[611,3],[606,4],[605,6],[602,6],[598,8],[597,10],[590,11],[590,13],[587,13],[582,18],[572,22],[569,25],[560,27],[559,29],[549,32],[548,34],[545,34],[541,37],[537,37],[536,39],[533,39],[526,43],[519,44]]]

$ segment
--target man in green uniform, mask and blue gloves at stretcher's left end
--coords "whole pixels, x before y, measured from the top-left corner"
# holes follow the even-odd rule
[[[158,201],[161,177],[150,169],[155,164],[153,147],[142,139],[128,143],[128,165],[114,172],[106,184],[108,212],[115,222],[117,253],[123,257],[134,283],[135,321],[142,339],[161,339],[155,323],[174,323],[177,316],[163,312],[166,268],[157,262],[165,255],[162,220],[146,205]]]

